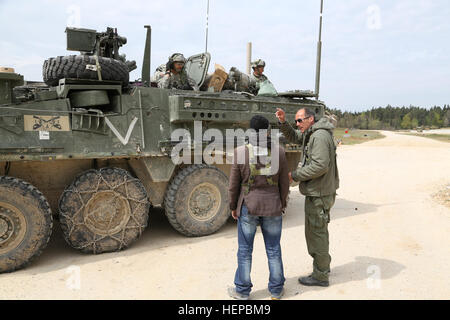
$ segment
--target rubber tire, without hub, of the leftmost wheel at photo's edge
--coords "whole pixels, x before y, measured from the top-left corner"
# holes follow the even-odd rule
[[[1,176],[0,207],[2,204],[15,207],[26,223],[26,228],[23,238],[18,237],[17,245],[12,245],[8,252],[1,253],[2,246],[0,245],[0,273],[21,269],[38,257],[47,246],[53,228],[52,212],[47,199],[28,182]],[[0,213],[5,214],[2,211],[5,207],[2,208]],[[12,237],[10,240],[13,239]],[[7,242],[4,243],[5,250],[6,244]]]

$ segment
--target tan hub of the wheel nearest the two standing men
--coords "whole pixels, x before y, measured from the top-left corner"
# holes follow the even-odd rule
[[[201,183],[189,196],[189,214],[197,220],[208,220],[216,215],[220,200],[220,192],[215,185],[208,182]]]

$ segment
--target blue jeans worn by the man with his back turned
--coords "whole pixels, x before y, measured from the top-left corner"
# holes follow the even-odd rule
[[[280,246],[282,217],[253,216],[248,213],[245,204],[242,205],[241,215],[238,219],[238,268],[234,277],[236,292],[249,295],[253,287],[250,272],[252,269],[253,240],[258,224],[261,225],[269,262],[269,291],[272,295],[279,295],[283,290],[285,281]]]

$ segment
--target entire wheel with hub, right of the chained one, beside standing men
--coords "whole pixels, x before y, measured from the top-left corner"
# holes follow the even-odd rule
[[[170,224],[186,236],[219,230],[230,216],[228,178],[216,167],[192,165],[170,183],[164,200]]]

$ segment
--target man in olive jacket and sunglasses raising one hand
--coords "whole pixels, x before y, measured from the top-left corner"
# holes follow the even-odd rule
[[[300,109],[295,116],[299,130],[286,122],[282,109],[277,109],[276,116],[286,139],[301,144],[303,148],[300,166],[289,175],[291,182],[300,183],[300,192],[306,196],[305,236],[308,253],[314,263],[313,273],[298,280],[307,286],[327,287],[331,262],[328,223],[339,188],[334,126],[325,118],[316,122],[314,112],[307,108]]]

